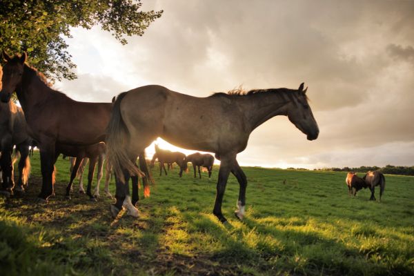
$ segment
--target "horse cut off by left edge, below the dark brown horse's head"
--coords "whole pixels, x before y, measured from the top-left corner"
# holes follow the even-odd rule
[[[23,110],[12,101],[8,103],[0,102],[0,168],[3,180],[1,188],[6,195],[12,193],[13,189],[17,193],[23,193],[23,185],[28,184],[30,143],[31,139],[28,136]],[[15,159],[12,158],[13,146],[16,146],[16,152],[20,154],[19,180],[16,187],[14,187],[13,164]]]

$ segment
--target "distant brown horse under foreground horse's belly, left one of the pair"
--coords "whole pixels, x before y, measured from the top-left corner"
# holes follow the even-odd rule
[[[183,172],[187,170],[187,162],[186,162],[186,155],[182,152],[178,151],[170,151],[170,150],[163,150],[159,148],[158,145],[155,145],[155,154],[152,157],[150,166],[154,167],[155,159],[158,159],[159,161],[159,176],[162,175],[162,169],[164,168],[164,172],[166,175],[168,175],[166,166],[164,164],[171,164],[177,163],[179,166],[179,177],[183,175]]]

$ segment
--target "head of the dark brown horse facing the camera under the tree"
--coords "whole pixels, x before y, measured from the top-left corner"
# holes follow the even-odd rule
[[[3,76],[1,77],[1,92],[0,99],[3,103],[10,101],[10,96],[17,86],[20,85],[23,76],[24,62],[26,61],[26,52],[19,57],[14,55],[10,57],[5,50],[3,50],[3,58],[6,64],[3,66]]]

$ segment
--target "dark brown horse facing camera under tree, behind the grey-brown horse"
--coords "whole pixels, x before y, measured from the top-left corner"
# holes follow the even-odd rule
[[[42,188],[37,201],[46,202],[52,195],[52,172],[59,156],[59,146],[89,146],[105,141],[106,126],[112,112],[112,103],[87,103],[75,101],[50,88],[44,77],[36,69],[28,66],[26,53],[19,57],[10,57],[3,50],[6,63],[3,66],[0,91],[1,101],[10,101],[10,95],[16,91],[28,124],[28,134],[35,139],[40,150]],[[144,150],[139,153],[144,159]],[[146,173],[144,186],[148,184],[150,172],[145,160],[141,162],[141,171]],[[144,175],[144,174],[142,174]],[[138,176],[132,177],[134,184]],[[136,215],[132,208],[129,188],[119,192],[126,200],[128,213]],[[128,195],[125,197],[124,195]]]

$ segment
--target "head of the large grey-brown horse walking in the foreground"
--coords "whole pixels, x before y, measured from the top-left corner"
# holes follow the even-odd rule
[[[307,135],[308,140],[315,140],[319,135],[319,127],[313,117],[311,106],[308,104],[308,97],[306,97],[306,90],[304,90],[304,83],[301,83],[297,90],[296,101],[290,103],[292,106],[288,109],[288,119],[300,131]]]

